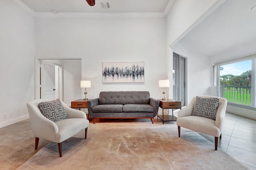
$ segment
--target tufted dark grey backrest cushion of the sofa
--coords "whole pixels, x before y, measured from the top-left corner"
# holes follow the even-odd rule
[[[150,104],[149,92],[100,92],[99,104]]]

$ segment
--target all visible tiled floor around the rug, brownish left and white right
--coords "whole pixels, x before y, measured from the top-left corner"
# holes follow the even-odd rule
[[[174,111],[174,115],[177,112]],[[160,119],[154,119],[155,122]],[[176,123],[175,121],[165,123]],[[203,137],[214,143],[214,137]],[[29,119],[0,128],[0,169],[16,169],[49,141],[41,140],[34,150]],[[256,120],[226,113],[218,147],[251,170],[256,170]]]

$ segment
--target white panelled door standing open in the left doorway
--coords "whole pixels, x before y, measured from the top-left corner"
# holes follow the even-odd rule
[[[41,99],[55,98],[55,64],[42,60]]]

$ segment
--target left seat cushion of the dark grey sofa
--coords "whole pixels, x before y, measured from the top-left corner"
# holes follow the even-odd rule
[[[104,113],[104,112],[122,112],[122,104],[101,104],[92,107],[92,112]]]

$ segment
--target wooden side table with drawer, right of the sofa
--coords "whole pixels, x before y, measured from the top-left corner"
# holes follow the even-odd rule
[[[163,124],[164,121],[176,121],[177,117],[173,115],[173,109],[181,109],[181,102],[173,99],[158,100],[160,101],[159,107],[162,108],[163,114],[158,115],[157,113],[157,118],[159,117],[163,121]],[[164,115],[164,109],[172,109],[172,115]]]

